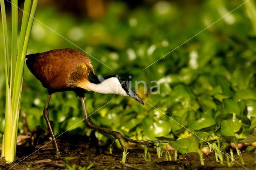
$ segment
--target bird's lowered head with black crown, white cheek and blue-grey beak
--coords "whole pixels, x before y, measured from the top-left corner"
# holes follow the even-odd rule
[[[140,99],[130,88],[129,81],[120,75],[108,75],[99,79],[100,82],[109,81],[112,83],[110,86],[115,86],[116,94],[123,95],[123,96],[130,96],[142,105],[144,105],[142,99]],[[119,83],[118,83],[119,82]],[[122,88],[122,89],[121,89]]]

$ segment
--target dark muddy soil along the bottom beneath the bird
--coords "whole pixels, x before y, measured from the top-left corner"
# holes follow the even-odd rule
[[[106,151],[104,154],[96,155],[96,147],[92,146],[94,142],[78,142],[81,137],[70,137],[69,140],[58,140],[62,155],[57,158],[54,154],[54,147],[52,143],[46,144],[48,141],[44,141],[42,144],[32,146],[17,146],[17,159],[15,163],[7,164],[3,160],[0,160],[0,168],[2,169],[64,169],[68,166],[73,166],[74,169],[80,169],[82,167],[92,166],[90,169],[149,169],[149,170],[162,170],[162,169],[246,169],[255,170],[256,164],[254,164],[254,154],[242,152],[245,167],[242,167],[238,163],[234,163],[232,168],[228,168],[226,165],[226,157],[224,157],[224,164],[216,162],[215,155],[204,154],[205,166],[200,164],[200,158],[197,153],[178,154],[177,161],[167,161],[165,156],[158,158],[156,156],[156,149],[149,148],[151,155],[151,162],[145,161],[141,154],[144,154],[144,148],[132,147],[128,150],[126,164],[121,164],[122,150],[115,148],[112,154]],[[42,147],[43,146],[43,147]],[[42,148],[41,148],[42,147]],[[40,148],[40,149],[39,149]],[[39,150],[38,150],[39,149]],[[38,150],[38,151],[36,151]],[[35,153],[33,153],[36,151]],[[33,154],[31,154],[33,153]],[[235,150],[234,150],[235,153]],[[30,155],[31,154],[31,155]],[[30,156],[28,156],[30,155]],[[28,156],[28,157],[26,157]],[[236,161],[240,163],[238,156],[235,156]]]

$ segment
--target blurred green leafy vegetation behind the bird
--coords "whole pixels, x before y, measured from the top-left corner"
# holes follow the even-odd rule
[[[235,113],[243,120],[250,119],[234,125],[229,133],[242,134],[256,127],[256,30],[247,13],[250,7],[240,6],[244,2],[42,0],[38,4],[28,53],[81,48],[113,69],[90,57],[96,75],[132,75],[133,90],[135,81],[146,81],[147,90],[156,85],[150,81],[160,82],[160,94],[156,95],[144,95],[143,86],[139,87],[138,95],[150,103],[144,106],[128,97],[88,92],[88,113],[113,100],[90,116],[95,125],[139,140],[173,140],[187,134],[178,123],[195,133],[222,134],[221,129],[228,123],[220,122],[218,115]],[[20,1],[21,8],[22,3]],[[234,12],[222,18],[232,10]],[[9,9],[9,24],[10,19]],[[5,103],[2,27],[0,53],[2,134]],[[42,114],[46,98],[46,89],[25,67],[20,109],[26,113],[30,130],[46,128]],[[80,100],[72,91],[53,94],[49,112],[55,134],[84,119]],[[230,117],[225,119],[228,121]],[[21,116],[19,132],[24,133]],[[90,132],[92,130],[81,122],[65,134],[89,135]],[[100,140],[109,138],[100,132],[94,133]]]

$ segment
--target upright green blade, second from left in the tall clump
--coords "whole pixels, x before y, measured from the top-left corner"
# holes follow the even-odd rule
[[[14,72],[17,59],[17,36],[18,36],[18,0],[12,0],[12,54],[11,54],[11,74],[10,92],[14,86]]]

